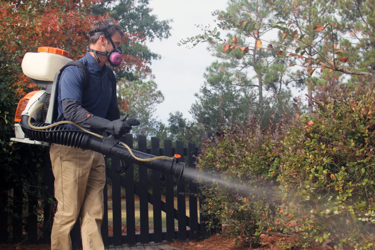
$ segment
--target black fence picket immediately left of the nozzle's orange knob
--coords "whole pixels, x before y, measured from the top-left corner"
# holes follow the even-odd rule
[[[172,141],[164,139],[164,155],[172,157]],[[165,175],[165,204],[166,204],[166,240],[174,240],[174,176]]]

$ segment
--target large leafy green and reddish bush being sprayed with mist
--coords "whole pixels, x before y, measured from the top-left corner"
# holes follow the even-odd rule
[[[273,234],[294,237],[293,247],[372,248],[374,87],[373,79],[356,87],[327,85],[315,94],[311,117],[295,99],[294,111],[284,111],[277,124],[261,129],[249,117],[205,141],[197,168],[230,182],[201,181],[208,227],[219,217],[245,242]]]

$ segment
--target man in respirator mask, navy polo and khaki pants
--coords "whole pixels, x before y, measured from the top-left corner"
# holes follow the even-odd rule
[[[114,63],[115,53],[111,52],[121,52],[119,47],[124,33],[109,24],[98,21],[90,27],[88,52],[79,60],[89,72],[88,87],[83,87],[82,69],[69,66],[63,70],[58,86],[58,115],[92,131],[121,136],[128,133],[131,126],[124,119],[120,120],[116,82],[110,80],[109,73],[113,72],[108,71],[106,63]],[[115,56],[118,59],[120,55]],[[91,150],[54,144],[50,157],[58,202],[51,249],[72,249],[70,231],[80,214],[83,249],[103,250],[100,227],[104,214],[104,156]]]

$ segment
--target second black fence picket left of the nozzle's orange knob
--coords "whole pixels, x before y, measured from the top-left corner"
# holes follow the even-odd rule
[[[151,154],[159,156],[160,153],[159,138],[151,137]],[[154,215],[154,242],[161,243],[163,241],[162,234],[162,204],[161,204],[161,184],[160,171],[152,170],[152,195],[154,197],[153,215]]]

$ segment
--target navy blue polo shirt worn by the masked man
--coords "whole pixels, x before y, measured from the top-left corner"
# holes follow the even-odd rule
[[[74,99],[93,115],[110,121],[118,119],[120,112],[117,105],[116,83],[112,83],[108,76],[108,66],[104,65],[101,68],[89,52],[79,61],[89,70],[89,87],[83,90],[84,73],[79,67],[67,67],[62,72],[58,84],[58,117],[63,112],[61,101]]]

